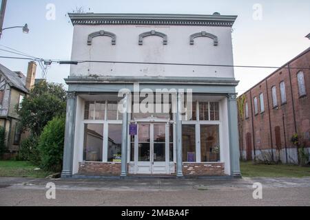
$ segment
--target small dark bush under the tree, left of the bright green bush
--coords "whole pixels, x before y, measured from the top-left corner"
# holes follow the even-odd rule
[[[35,166],[40,165],[40,155],[38,150],[39,137],[30,135],[27,139],[21,142],[19,148],[19,160],[29,161]]]

